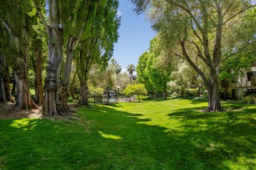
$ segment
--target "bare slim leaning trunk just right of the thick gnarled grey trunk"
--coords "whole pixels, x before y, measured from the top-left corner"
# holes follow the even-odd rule
[[[74,57],[74,51],[71,46],[72,46],[71,42],[69,42],[67,47],[67,53],[66,53],[65,71],[63,73],[63,79],[62,79],[62,84],[60,88],[60,94],[61,94],[60,104],[66,112],[70,112],[70,109],[68,107],[68,86],[69,86],[69,79],[70,79],[70,73],[71,73],[71,66],[72,66],[73,57]]]

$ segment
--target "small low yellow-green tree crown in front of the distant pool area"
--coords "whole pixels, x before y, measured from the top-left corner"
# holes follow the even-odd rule
[[[148,93],[145,84],[128,84],[123,92],[130,97],[133,95],[147,95]]]

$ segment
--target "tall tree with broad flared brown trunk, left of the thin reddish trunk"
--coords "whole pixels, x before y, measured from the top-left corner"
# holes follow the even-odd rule
[[[30,97],[29,69],[29,20],[33,15],[31,1],[3,1],[0,3],[0,20],[10,37],[13,72],[17,84],[17,109],[37,108]]]

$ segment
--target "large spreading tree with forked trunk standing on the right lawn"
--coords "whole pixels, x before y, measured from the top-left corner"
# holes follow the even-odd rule
[[[137,4],[135,11],[140,13],[148,4],[153,6],[151,21],[167,44],[179,44],[180,53],[177,55],[185,60],[202,77],[207,90],[209,105],[206,112],[225,111],[220,105],[219,73],[221,63],[227,58],[241,52],[244,48],[234,47],[223,55],[222,39],[233,21],[249,8],[255,7],[249,1],[145,1],[134,0]],[[250,37],[252,39],[253,36]],[[249,41],[242,44],[250,44]],[[249,43],[247,43],[249,42]],[[177,46],[176,46],[177,48]],[[210,79],[196,66],[193,57],[198,56],[209,67]]]

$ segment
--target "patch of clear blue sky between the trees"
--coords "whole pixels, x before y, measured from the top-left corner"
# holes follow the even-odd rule
[[[149,48],[150,40],[156,35],[146,21],[145,14],[137,16],[129,0],[119,0],[118,13],[122,16],[118,43],[114,58],[122,69],[128,64],[137,65],[139,56]]]

